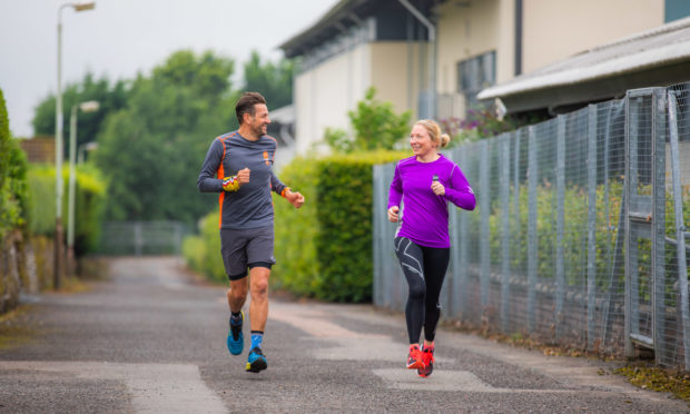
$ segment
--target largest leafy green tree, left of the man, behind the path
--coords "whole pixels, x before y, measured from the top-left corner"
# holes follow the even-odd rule
[[[99,136],[108,218],[193,223],[213,208],[196,179],[214,137],[237,127],[233,70],[231,59],[183,50],[139,75]]]

